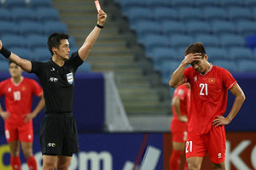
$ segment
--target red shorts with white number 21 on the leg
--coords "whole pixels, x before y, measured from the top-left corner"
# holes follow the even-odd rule
[[[226,134],[224,126],[214,127],[207,134],[188,133],[186,158],[205,157],[208,151],[212,163],[225,160]]]

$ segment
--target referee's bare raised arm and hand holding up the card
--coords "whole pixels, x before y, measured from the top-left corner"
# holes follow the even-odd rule
[[[103,25],[106,20],[107,14],[103,10],[100,10],[97,14],[97,24],[95,28],[90,32],[89,36],[86,37],[82,47],[79,48],[79,57],[83,61],[87,58],[88,54],[90,53],[90,48],[92,48],[94,43],[96,42],[96,39],[102,31]]]

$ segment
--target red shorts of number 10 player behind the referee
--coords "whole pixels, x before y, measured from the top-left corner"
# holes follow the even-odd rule
[[[33,127],[32,122],[15,125],[13,123],[5,122],[5,138],[7,142],[20,140],[20,142],[33,142]]]

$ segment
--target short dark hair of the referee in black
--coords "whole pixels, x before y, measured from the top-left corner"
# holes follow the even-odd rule
[[[63,33],[55,32],[55,33],[51,34],[49,36],[48,42],[47,42],[50,54],[53,55],[53,52],[51,50],[53,47],[59,48],[61,45],[61,40],[68,39],[68,37],[69,36],[67,34],[63,34]]]

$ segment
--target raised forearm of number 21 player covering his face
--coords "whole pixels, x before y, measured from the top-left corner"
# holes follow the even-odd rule
[[[183,83],[183,72],[186,68],[186,64],[183,62],[177,67],[176,71],[172,73],[171,80],[169,82],[169,86],[172,88],[177,88],[179,85]]]

